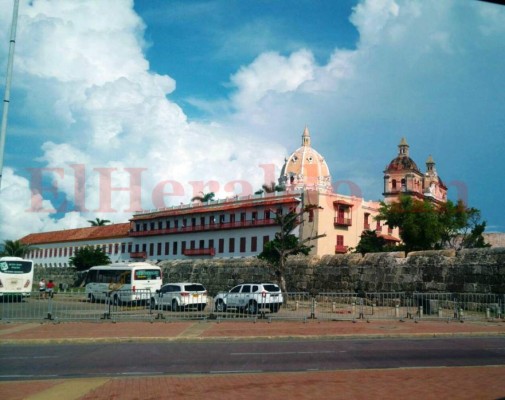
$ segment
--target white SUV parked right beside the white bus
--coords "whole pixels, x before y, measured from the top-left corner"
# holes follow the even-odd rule
[[[207,305],[207,289],[201,283],[167,283],[151,297],[150,307],[169,307],[172,311],[197,309],[203,311]]]

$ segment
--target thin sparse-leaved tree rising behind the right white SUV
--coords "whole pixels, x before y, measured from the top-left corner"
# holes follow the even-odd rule
[[[283,293],[287,292],[285,274],[288,256],[309,254],[314,245],[307,245],[307,243],[326,236],[326,234],[318,235],[316,232],[314,235],[300,240],[298,236],[292,233],[300,225],[304,214],[308,214],[317,208],[320,207],[307,205],[299,212],[291,211],[286,215],[276,213],[275,222],[280,227],[279,232],[275,234],[275,238],[269,241],[258,255],[259,259],[267,261],[275,268],[279,286]],[[284,301],[287,301],[286,296],[284,296]]]

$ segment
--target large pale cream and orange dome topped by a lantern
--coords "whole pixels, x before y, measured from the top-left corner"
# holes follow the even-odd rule
[[[309,129],[302,134],[302,146],[284,161],[279,183],[291,188],[330,189],[330,170],[324,157],[310,146]]]

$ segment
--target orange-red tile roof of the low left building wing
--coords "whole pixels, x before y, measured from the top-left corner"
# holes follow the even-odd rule
[[[63,231],[30,233],[21,238],[25,244],[44,244],[60,242],[79,242],[89,240],[128,237],[129,223],[90,226],[87,228],[66,229]]]

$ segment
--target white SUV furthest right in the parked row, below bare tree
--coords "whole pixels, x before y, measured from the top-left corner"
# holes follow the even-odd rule
[[[214,309],[224,312],[230,308],[257,314],[268,309],[277,312],[284,301],[279,285],[275,283],[243,283],[229,292],[220,292],[214,297]]]

